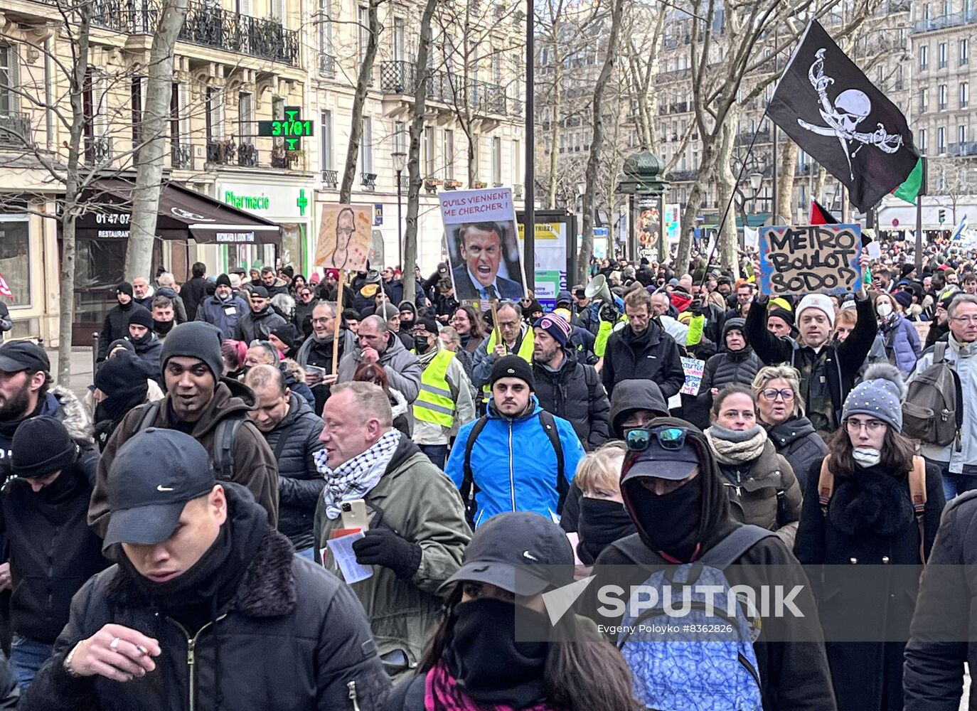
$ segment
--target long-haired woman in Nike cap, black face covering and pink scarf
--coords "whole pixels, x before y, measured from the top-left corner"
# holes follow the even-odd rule
[[[592,623],[568,612],[550,624],[542,593],[572,582],[573,549],[556,523],[511,513],[481,525],[442,586],[446,615],[416,676],[391,692],[387,711],[643,708],[630,669]]]

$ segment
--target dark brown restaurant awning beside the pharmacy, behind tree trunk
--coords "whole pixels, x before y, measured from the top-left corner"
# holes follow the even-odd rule
[[[80,239],[129,237],[135,184],[104,178],[86,191],[90,211],[75,223]],[[190,188],[165,182],[159,192],[156,234],[162,239],[188,239],[210,244],[278,244],[281,229],[265,218],[219,202]]]

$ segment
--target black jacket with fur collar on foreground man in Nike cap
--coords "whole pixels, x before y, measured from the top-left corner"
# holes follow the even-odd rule
[[[255,515],[246,491],[225,484],[229,522]],[[250,508],[250,513],[245,512]],[[234,533],[232,534],[234,535]],[[162,649],[156,670],[120,684],[104,677],[74,679],[64,656],[106,623],[139,630]],[[356,595],[338,577],[295,555],[292,544],[267,528],[257,554],[237,584],[234,598],[215,622],[196,635],[193,666],[189,640],[158,613],[118,565],[99,573],[71,603],[71,617],[21,700],[21,711],[132,711],[191,708],[321,711],[381,708],[390,688]],[[219,663],[219,667],[217,666]],[[216,667],[216,668],[215,668]],[[193,688],[188,690],[193,670]],[[219,685],[219,689],[218,689]],[[353,696],[355,694],[355,698]]]

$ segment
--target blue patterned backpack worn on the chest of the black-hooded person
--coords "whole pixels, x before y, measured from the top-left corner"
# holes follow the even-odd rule
[[[755,544],[772,536],[776,533],[766,528],[742,525],[707,550],[696,563],[658,570],[642,584],[658,591],[659,603],[637,617],[632,617],[630,605],[627,607],[617,648],[631,668],[634,696],[646,707],[670,711],[762,711],[763,692],[753,650],[759,625],[752,621],[754,615],[747,616],[742,604],[737,605],[735,617],[723,610],[732,587],[726,579],[725,568],[739,561]],[[671,598],[671,605],[678,609],[689,598],[692,602],[689,612],[680,619],[670,616],[660,601],[663,596],[669,599],[662,592],[664,587],[668,585],[674,590],[676,584],[711,585],[716,586],[714,590],[721,589],[712,597],[716,601],[713,613],[705,612],[705,595],[693,591],[681,600]],[[644,595],[649,593],[646,591]],[[681,639],[674,639],[671,633],[663,636],[652,629],[653,625],[676,623],[683,627]],[[701,631],[689,631],[684,629],[685,625]],[[734,633],[717,631],[716,625],[731,625]]]

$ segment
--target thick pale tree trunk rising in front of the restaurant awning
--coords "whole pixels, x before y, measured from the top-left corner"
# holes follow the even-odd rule
[[[152,241],[156,233],[159,191],[163,180],[163,150],[166,145],[170,97],[173,93],[173,53],[187,17],[187,0],[163,0],[159,24],[149,49],[149,78],[146,110],[136,126],[139,152],[133,153],[136,189],[132,197],[132,221],[126,247],[125,270],[130,281],[152,269]]]

